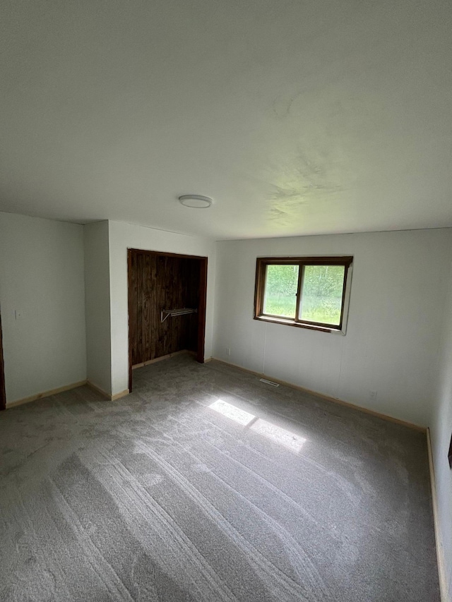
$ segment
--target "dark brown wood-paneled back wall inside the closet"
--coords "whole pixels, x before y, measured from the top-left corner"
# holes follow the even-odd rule
[[[131,250],[129,336],[132,366],[198,347],[198,313],[169,316],[164,309],[199,307],[201,263],[151,251]]]

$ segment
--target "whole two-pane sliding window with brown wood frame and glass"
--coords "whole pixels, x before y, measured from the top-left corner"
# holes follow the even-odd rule
[[[254,318],[345,333],[352,260],[257,258]]]

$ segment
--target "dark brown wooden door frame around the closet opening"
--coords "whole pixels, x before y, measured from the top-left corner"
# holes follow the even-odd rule
[[[196,361],[204,363],[204,349],[206,342],[206,300],[207,300],[207,257],[200,255],[182,255],[180,253],[165,253],[163,251],[148,251],[139,248],[127,249],[127,287],[129,299],[129,392],[132,392],[132,346],[133,346],[133,325],[131,324],[131,315],[133,314],[131,303],[132,296],[132,257],[134,253],[149,253],[150,255],[160,255],[163,257],[177,257],[181,259],[196,259],[199,263],[199,307],[198,307],[198,345],[196,350]]]

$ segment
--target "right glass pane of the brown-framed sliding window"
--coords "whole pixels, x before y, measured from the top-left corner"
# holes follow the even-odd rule
[[[301,320],[340,324],[345,267],[343,265],[305,265]]]

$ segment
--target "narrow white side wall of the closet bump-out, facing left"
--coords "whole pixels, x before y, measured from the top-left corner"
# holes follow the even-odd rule
[[[108,222],[84,227],[87,375],[93,385],[112,391]]]

